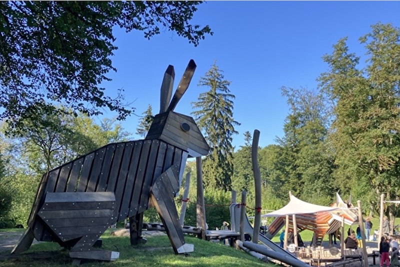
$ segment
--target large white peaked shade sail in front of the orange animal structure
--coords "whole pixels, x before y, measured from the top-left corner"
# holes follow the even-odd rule
[[[295,197],[294,195],[290,195],[290,201],[284,207],[263,214],[261,217],[280,217],[285,215],[293,215],[293,214],[307,214],[307,213],[315,213],[321,211],[333,211],[340,210],[342,207],[331,207],[331,206],[320,206],[316,204],[311,204],[305,201],[302,201]]]

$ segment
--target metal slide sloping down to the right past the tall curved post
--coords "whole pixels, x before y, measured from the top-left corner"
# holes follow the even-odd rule
[[[236,232],[239,232],[239,227],[240,227],[240,207],[239,206],[240,205],[238,203],[232,203],[229,206],[231,229]],[[253,227],[251,226],[250,221],[247,218],[247,214],[245,214],[245,216],[244,216],[244,232],[250,234],[251,236],[253,235]],[[292,258],[299,260],[298,258],[293,256],[290,252],[286,251],[279,245],[275,244],[274,242],[272,242],[271,239],[265,237],[265,235],[263,235],[261,233],[259,234],[258,240],[261,243],[263,243],[264,245],[268,246],[270,249],[272,249],[276,252],[279,252],[279,253],[283,254],[284,256],[290,256]],[[301,260],[299,260],[299,261],[301,261]]]

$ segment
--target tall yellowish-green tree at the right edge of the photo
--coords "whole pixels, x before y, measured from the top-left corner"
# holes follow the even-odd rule
[[[362,36],[367,60],[359,68],[359,56],[351,53],[347,39],[333,45],[323,57],[329,69],[319,77],[321,88],[336,103],[331,144],[343,175],[358,187],[387,199],[398,198],[400,174],[400,29],[377,23]],[[361,180],[361,182],[358,182]],[[378,206],[378,205],[375,205]],[[394,205],[388,211],[394,213]]]

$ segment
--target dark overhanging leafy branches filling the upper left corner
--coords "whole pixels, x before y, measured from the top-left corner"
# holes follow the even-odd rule
[[[209,26],[190,24],[201,1],[3,1],[0,2],[0,119],[11,128],[43,112],[51,102],[89,115],[103,108],[118,119],[132,112],[123,92],[111,98],[101,82],[115,71],[112,29],[168,30],[197,45]],[[47,101],[48,100],[48,101]]]

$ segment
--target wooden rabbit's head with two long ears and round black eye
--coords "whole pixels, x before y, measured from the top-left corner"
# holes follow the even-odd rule
[[[173,66],[167,67],[161,85],[160,111],[154,116],[146,136],[146,139],[160,139],[185,150],[189,157],[207,155],[209,151],[209,146],[194,119],[173,111],[189,86],[195,68],[196,64],[191,59],[170,100],[175,72]]]

